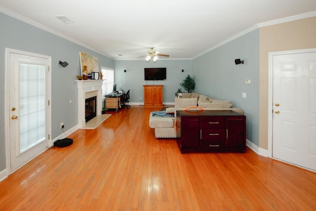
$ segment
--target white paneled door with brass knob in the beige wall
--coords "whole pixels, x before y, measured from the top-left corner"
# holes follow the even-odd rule
[[[272,156],[316,170],[316,52],[273,56]]]

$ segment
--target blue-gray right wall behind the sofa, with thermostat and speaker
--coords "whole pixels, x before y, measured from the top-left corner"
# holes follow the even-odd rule
[[[244,64],[235,65],[235,59]],[[247,139],[259,146],[259,29],[217,47],[193,62],[196,92],[232,100],[247,118]],[[251,84],[245,84],[245,80]],[[242,98],[242,92],[246,98]]]

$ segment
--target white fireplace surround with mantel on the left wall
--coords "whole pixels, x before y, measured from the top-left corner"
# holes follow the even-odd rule
[[[102,84],[104,80],[76,80],[78,85],[78,127],[85,126],[85,99],[97,96],[97,116],[102,110]]]

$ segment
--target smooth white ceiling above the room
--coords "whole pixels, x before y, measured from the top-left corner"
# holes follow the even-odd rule
[[[169,59],[192,59],[256,24],[316,11],[316,0],[0,0],[0,7],[113,59],[137,59],[151,46]]]

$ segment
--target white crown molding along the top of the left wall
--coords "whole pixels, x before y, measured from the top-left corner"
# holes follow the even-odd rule
[[[88,48],[88,49],[90,49],[90,50],[92,50],[92,51],[94,51],[94,52],[100,53],[101,55],[106,56],[106,57],[108,57],[108,58],[110,58],[110,59],[114,59],[114,58],[112,58],[112,57],[110,57],[110,56],[108,56],[108,55],[105,55],[104,53],[102,53],[102,52],[100,52],[100,51],[98,51],[98,50],[96,50],[96,49],[94,49],[94,48],[92,48],[92,47],[90,47],[90,46],[88,46],[88,45],[82,43],[82,42],[79,42],[79,41],[77,41],[77,40],[75,40],[75,39],[73,39],[73,38],[71,38],[71,37],[68,37],[67,35],[64,35],[64,34],[62,34],[62,33],[60,33],[60,32],[57,32],[57,31],[55,31],[55,30],[53,30],[53,29],[51,29],[51,28],[48,28],[48,27],[46,27],[46,26],[44,26],[44,25],[42,25],[42,24],[40,24],[40,23],[38,23],[38,22],[36,22],[36,21],[33,21],[33,20],[31,20],[31,19],[29,19],[29,18],[27,18],[27,17],[24,17],[24,16],[22,16],[22,15],[16,13],[16,12],[13,12],[13,11],[11,11],[11,10],[8,10],[8,9],[6,9],[6,8],[3,8],[2,6],[0,6],[0,12],[3,13],[3,14],[5,14],[5,15],[8,15],[8,16],[10,16],[10,17],[13,17],[13,18],[15,18],[15,19],[17,19],[17,20],[20,20],[20,21],[22,21],[22,22],[25,22],[25,23],[30,24],[30,25],[32,25],[32,26],[35,26],[35,27],[37,27],[37,28],[39,28],[39,29],[41,29],[41,30],[44,30],[44,31],[46,31],[46,32],[49,32],[49,33],[51,33],[51,34],[53,34],[53,35],[56,35],[56,36],[58,36],[58,37],[61,37],[61,38],[65,39],[65,40],[68,40],[68,41],[70,41],[70,42],[74,42],[74,43],[76,43],[76,44],[79,44],[79,45],[81,45],[82,47],[85,47],[85,48]]]

